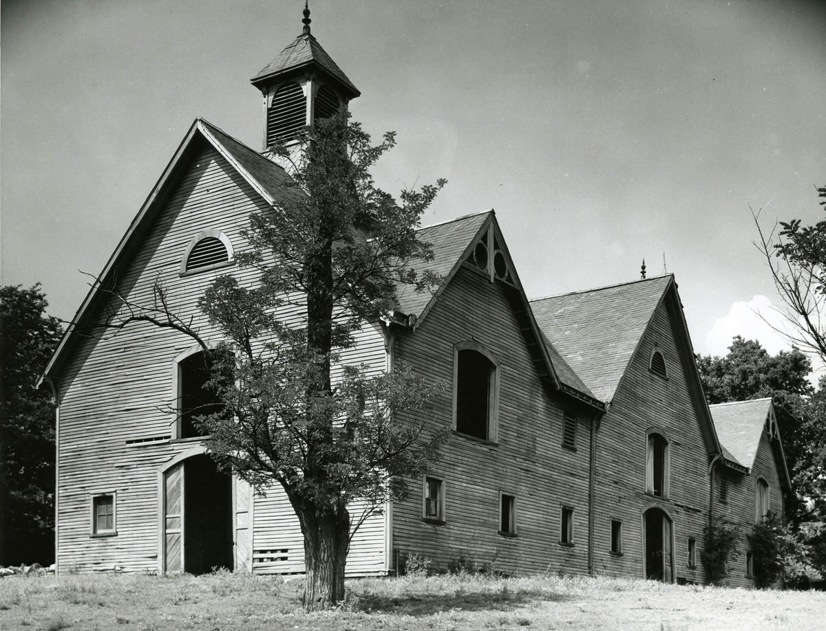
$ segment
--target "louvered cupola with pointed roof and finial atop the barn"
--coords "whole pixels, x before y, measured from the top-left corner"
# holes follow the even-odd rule
[[[347,107],[361,92],[310,33],[305,3],[301,35],[250,82],[263,95],[263,151],[282,140],[296,142],[297,132]]]

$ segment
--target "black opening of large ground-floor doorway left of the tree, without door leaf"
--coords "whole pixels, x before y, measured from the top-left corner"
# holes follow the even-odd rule
[[[183,477],[183,571],[232,570],[232,478],[207,455],[187,459]]]

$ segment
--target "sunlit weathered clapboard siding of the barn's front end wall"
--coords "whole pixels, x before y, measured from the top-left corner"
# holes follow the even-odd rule
[[[219,274],[230,273],[249,283],[254,281],[253,272],[230,266],[182,276],[183,253],[190,240],[206,229],[221,230],[235,252],[243,251],[240,230],[247,226],[250,213],[266,209],[247,182],[205,144],[183,172],[140,247],[119,270],[118,289],[135,304],[149,305],[156,281],[162,283],[173,308],[193,314],[202,334],[218,341],[200,315],[197,299]],[[284,315],[298,317],[297,313]],[[354,363],[366,361],[375,364],[376,370],[383,369],[380,332],[365,327],[360,335],[366,341],[359,347],[361,355],[354,354]],[[58,384],[59,572],[73,567],[81,572],[114,567],[159,569],[159,469],[199,441],[135,445],[127,441],[171,435],[174,415],[164,408],[174,403],[177,375],[173,359],[191,346],[192,341],[178,332],[135,324],[117,335],[80,341],[74,349]],[[91,494],[99,492],[116,492],[116,536],[90,536]],[[266,502],[254,503],[256,528],[277,529],[285,519],[268,512]],[[235,511],[242,521],[249,517],[244,515],[243,504],[235,506]],[[376,534],[375,525],[371,528],[365,530],[370,535],[364,535],[370,544],[359,543],[354,551],[360,553],[371,544],[383,551],[383,534]],[[264,535],[255,536],[257,541]]]

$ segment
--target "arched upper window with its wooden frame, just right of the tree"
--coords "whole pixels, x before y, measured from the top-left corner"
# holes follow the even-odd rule
[[[496,440],[496,361],[474,342],[456,346],[453,407],[456,431]]]

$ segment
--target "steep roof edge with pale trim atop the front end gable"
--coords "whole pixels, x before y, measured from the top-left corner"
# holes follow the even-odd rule
[[[131,252],[134,252],[135,247],[140,243],[140,239],[143,238],[145,232],[163,209],[165,200],[183,172],[183,167],[188,164],[193,152],[197,151],[197,148],[201,147],[204,142],[215,148],[218,153],[221,153],[221,156],[235,168],[240,177],[244,178],[244,181],[268,205],[280,205],[296,195],[301,195],[301,191],[297,187],[289,186],[290,177],[278,164],[264,158],[206,120],[200,118],[194,120],[181,144],[178,145],[172,159],[164,168],[164,172],[155,183],[150,195],[147,196],[138,214],[135,215],[135,219],[132,219],[129,228],[126,229],[126,233],[117,244],[115,252],[109,257],[103,271],[97,276],[97,280],[88,291],[86,298],[83,299],[78,312],[74,314],[74,318],[72,318],[69,327],[66,328],[55,354],[51,357],[49,364],[46,365],[43,374],[40,376],[39,384],[50,378],[59,369],[67,356],[69,348],[74,346],[78,335],[78,325],[93,313],[102,293],[102,285],[106,285],[111,282],[112,278],[116,277],[121,263],[130,257]]]

